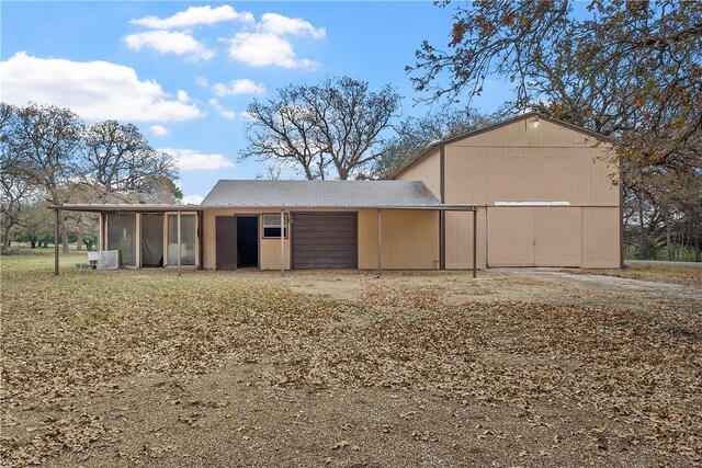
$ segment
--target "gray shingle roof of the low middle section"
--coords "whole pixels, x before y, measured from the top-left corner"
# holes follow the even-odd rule
[[[228,181],[201,206],[382,208],[432,207],[441,203],[417,181]]]

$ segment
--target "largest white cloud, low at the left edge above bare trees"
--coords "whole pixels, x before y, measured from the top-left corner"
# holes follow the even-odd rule
[[[37,58],[16,53],[0,61],[4,102],[69,107],[83,118],[180,122],[203,117],[195,104],[171,99],[161,85],[141,81],[133,68],[109,61]]]

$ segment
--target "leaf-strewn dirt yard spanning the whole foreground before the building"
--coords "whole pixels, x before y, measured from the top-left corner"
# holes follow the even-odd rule
[[[701,465],[702,288],[622,281],[3,270],[2,464]]]

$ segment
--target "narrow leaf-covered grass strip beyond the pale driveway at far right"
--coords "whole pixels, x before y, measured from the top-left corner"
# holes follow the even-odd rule
[[[564,271],[573,274],[614,276],[620,278],[702,286],[702,267],[694,264],[630,264],[624,269],[567,269]]]

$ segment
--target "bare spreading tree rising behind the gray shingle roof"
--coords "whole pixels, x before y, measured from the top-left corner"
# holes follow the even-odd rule
[[[249,146],[240,156],[294,165],[308,180],[349,179],[381,155],[399,101],[389,85],[373,92],[348,77],[291,84],[248,106]]]

